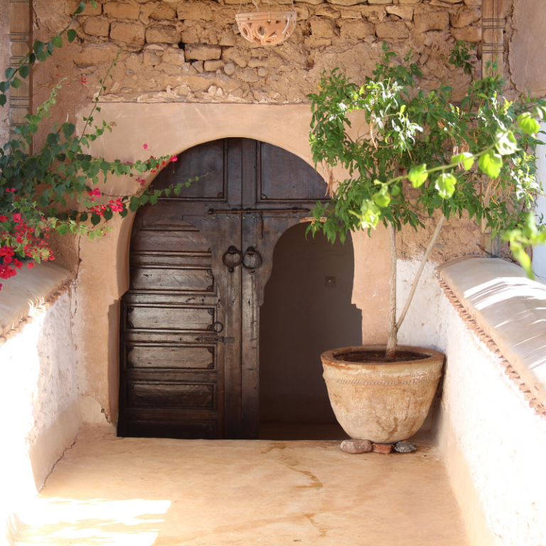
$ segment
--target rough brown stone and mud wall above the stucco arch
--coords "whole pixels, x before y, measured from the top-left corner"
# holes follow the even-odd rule
[[[36,0],[36,38],[62,28],[76,4]],[[450,70],[449,50],[456,40],[481,39],[481,0],[304,0],[294,4],[298,23],[291,38],[264,48],[240,36],[239,4],[129,0],[87,6],[75,23],[75,43],[36,68],[38,102],[63,77],[71,99],[92,97],[119,49],[105,101],[306,102],[323,70],[339,67],[355,80],[371,75],[382,41],[398,53],[414,50],[423,87],[443,80],[457,94],[469,77]],[[290,9],[284,4],[289,0],[270,8]],[[476,56],[473,63],[478,65]]]

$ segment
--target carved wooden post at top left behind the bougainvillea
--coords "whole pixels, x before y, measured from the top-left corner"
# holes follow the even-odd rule
[[[32,47],[32,0],[10,0],[9,2],[9,64],[18,67],[19,60]],[[15,128],[24,122],[32,109],[32,71],[29,77],[21,78],[18,89],[9,90],[10,139],[15,138]]]

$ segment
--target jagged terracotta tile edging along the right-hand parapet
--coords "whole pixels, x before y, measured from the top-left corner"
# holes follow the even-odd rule
[[[513,365],[510,364],[506,358],[504,358],[503,353],[498,348],[498,345],[493,341],[493,339],[486,334],[483,329],[479,326],[475,319],[469,314],[465,306],[461,304],[461,301],[457,299],[457,296],[449,288],[449,285],[446,282],[439,281],[440,288],[446,294],[447,299],[451,302],[451,305],[454,306],[455,310],[461,316],[461,319],[466,323],[466,326],[473,332],[473,334],[483,343],[497,358],[498,362],[503,366],[504,373],[508,375],[513,384],[518,387],[518,390],[523,393],[525,401],[528,402],[529,407],[535,412],[535,414],[540,415],[540,417],[546,417],[546,407],[543,405],[540,400],[537,400],[537,397],[532,394],[528,385],[525,384],[525,381],[521,378],[520,374],[513,368]]]

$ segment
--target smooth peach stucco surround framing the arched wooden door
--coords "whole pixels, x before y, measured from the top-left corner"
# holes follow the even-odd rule
[[[226,105],[173,102],[167,104],[108,103],[101,105],[99,122],[114,122],[90,146],[93,156],[136,161],[180,154],[203,142],[228,137],[255,139],[279,146],[314,165],[309,146],[309,105]],[[90,111],[77,112],[77,129]],[[147,144],[144,149],[144,144]],[[339,171],[334,173],[342,176]],[[149,182],[153,176],[149,178]],[[110,196],[134,193],[134,178],[109,177],[101,190]],[[119,389],[119,299],[129,288],[128,252],[134,214],[110,221],[112,231],[99,241],[80,240],[75,330],[80,396],[84,419],[117,421]],[[374,237],[353,236],[355,281],[353,303],[363,310],[363,338],[386,339],[390,273],[386,231]],[[98,402],[98,403],[97,403]],[[104,411],[101,411],[104,410]],[[90,414],[86,414],[90,412]]]

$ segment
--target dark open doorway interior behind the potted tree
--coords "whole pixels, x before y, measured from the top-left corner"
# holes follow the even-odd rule
[[[259,309],[259,438],[346,439],[322,378],[321,353],[360,345],[362,314],[350,303],[353,245],[331,245],[295,225],[273,251]]]

